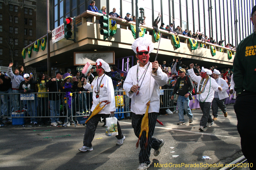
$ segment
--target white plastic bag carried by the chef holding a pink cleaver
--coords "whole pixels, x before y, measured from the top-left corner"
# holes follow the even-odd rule
[[[118,135],[117,130],[117,118],[116,117],[107,117],[106,118],[106,136],[116,136]]]

